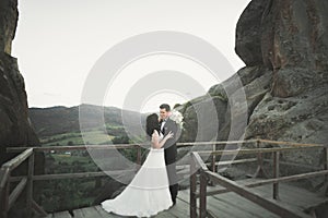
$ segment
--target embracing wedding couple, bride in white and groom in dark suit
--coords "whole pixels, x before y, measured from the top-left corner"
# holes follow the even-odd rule
[[[102,203],[108,211],[122,216],[150,217],[176,204],[177,124],[169,119],[167,104],[147,117],[145,131],[151,137],[151,149],[130,184],[114,199]]]

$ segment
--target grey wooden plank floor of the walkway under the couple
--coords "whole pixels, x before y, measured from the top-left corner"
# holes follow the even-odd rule
[[[243,184],[247,181],[239,181]],[[216,190],[220,186],[208,186],[208,191]],[[294,211],[303,213],[305,209],[316,206],[323,202],[327,202],[328,197],[324,194],[308,192],[304,189],[280,183],[280,204]],[[263,185],[253,187],[251,191],[260,194],[265,198],[272,197],[272,185]],[[224,193],[213,196],[208,196],[207,208],[216,217],[229,218],[247,218],[247,217],[278,217],[277,215],[263,209],[262,207],[254,204],[253,202],[238,196],[235,193]],[[61,211],[50,214],[47,218],[118,218],[114,214],[108,214],[102,209],[101,206],[85,207],[69,211]],[[156,218],[176,218],[176,217],[189,217],[189,190],[179,191],[177,204],[166,211],[162,211],[155,216]],[[304,213],[304,217],[306,214]]]

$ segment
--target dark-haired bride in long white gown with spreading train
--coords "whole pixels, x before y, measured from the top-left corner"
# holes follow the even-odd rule
[[[114,199],[102,203],[102,207],[108,213],[150,217],[173,205],[162,148],[173,137],[173,133],[163,136],[156,113],[147,117],[145,129],[151,136],[150,153],[131,183]]]

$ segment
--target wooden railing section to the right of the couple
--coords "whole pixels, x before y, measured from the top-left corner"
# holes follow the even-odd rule
[[[271,144],[271,145],[288,145],[288,147],[270,147],[270,148],[261,148],[260,144]],[[293,152],[293,150],[301,150],[301,149],[323,149],[324,153],[324,169],[295,174],[295,175],[288,175],[288,177],[279,177],[279,154],[281,152]],[[272,153],[273,154],[273,178],[272,179],[265,179],[258,180],[256,182],[251,182],[248,184],[241,185],[234,181],[231,181],[219,173],[210,171],[201,159],[201,155],[211,155],[211,156],[220,156],[220,155],[249,155],[256,154],[258,168],[254,177],[259,175],[260,173],[265,173],[263,170],[263,161],[262,161],[262,154]],[[294,181],[300,179],[306,179],[312,177],[325,175],[324,183],[328,186],[328,147],[319,144],[301,144],[301,143],[290,143],[290,142],[276,142],[276,141],[265,141],[258,140],[256,142],[256,148],[246,148],[246,149],[235,149],[235,150],[216,150],[216,152],[192,152],[190,153],[190,217],[196,218],[199,217],[215,217],[215,215],[211,214],[207,210],[207,196],[226,193],[226,192],[234,192],[255,204],[268,209],[269,211],[280,216],[280,217],[306,217],[303,213],[291,211],[285,206],[281,205],[276,199],[279,198],[279,182],[286,182],[286,181]],[[213,158],[212,158],[213,159]],[[230,161],[230,164],[235,164],[238,160]],[[245,161],[245,160],[244,160]],[[216,164],[218,165],[218,164]],[[220,166],[220,162],[219,162]],[[199,190],[197,190],[197,181],[199,179]],[[214,190],[211,192],[207,192],[208,183],[211,184],[220,184],[223,189]],[[272,184],[273,185],[273,199],[267,199],[261,197],[260,195],[253,193],[249,191],[248,187],[260,186],[265,184]],[[328,189],[326,190],[326,195],[328,194]],[[197,198],[199,198],[199,207],[197,206]],[[197,214],[197,208],[199,208],[199,213]],[[220,216],[220,215],[219,215]]]

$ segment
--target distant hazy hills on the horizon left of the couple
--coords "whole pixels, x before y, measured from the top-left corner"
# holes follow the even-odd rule
[[[83,131],[93,133],[93,135],[99,135],[99,132],[104,132],[102,130],[106,130],[109,135],[126,136],[129,129],[140,129],[139,123],[141,122],[143,125],[145,119],[145,114],[139,112],[93,105],[80,105],[70,108],[62,106],[30,108],[28,112],[31,123],[38,137],[42,141],[48,138],[47,142],[52,137],[50,140],[52,143],[56,135],[60,138],[65,137],[66,141],[66,134],[71,134],[72,137],[81,136],[80,121],[83,121]],[[81,113],[81,120],[79,113]],[[99,122],[99,117],[104,118],[104,122]],[[124,120],[129,120],[128,128],[126,126],[127,123],[124,124]]]

